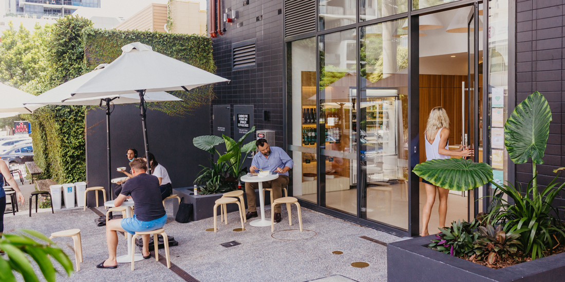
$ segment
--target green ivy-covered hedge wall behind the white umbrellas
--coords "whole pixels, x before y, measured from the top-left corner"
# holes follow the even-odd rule
[[[215,73],[212,42],[207,37],[94,29],[88,19],[66,16],[53,25],[47,52],[50,71],[36,81],[33,89],[37,89],[38,93],[35,94],[90,72],[98,64],[111,63],[121,54],[122,46],[136,41],[153,46],[154,51]],[[171,116],[184,116],[195,108],[210,104],[214,98],[212,86],[172,94],[183,102],[148,104],[148,107]],[[53,178],[58,183],[86,179],[85,113],[85,107],[53,105],[31,115],[34,160],[44,171],[41,179]]]

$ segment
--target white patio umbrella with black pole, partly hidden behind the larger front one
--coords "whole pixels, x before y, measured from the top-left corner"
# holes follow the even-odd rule
[[[88,82],[93,77],[101,73],[108,64],[98,65],[92,72],[83,74],[73,80],[67,81],[44,94],[33,96],[28,103],[41,105],[106,105],[106,135],[107,135],[107,154],[108,154],[108,196],[106,200],[112,199],[110,195],[111,187],[111,159],[110,159],[110,104],[131,104],[140,103],[139,95],[136,91],[129,91],[125,94],[99,95],[80,99],[72,99],[72,90],[79,87],[82,83]],[[145,94],[146,102],[182,101],[167,92],[148,92]],[[27,104],[26,104],[27,105]]]

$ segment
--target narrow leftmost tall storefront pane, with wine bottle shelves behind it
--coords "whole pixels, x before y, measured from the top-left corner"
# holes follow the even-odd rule
[[[316,38],[287,43],[286,52],[293,196],[316,204]]]

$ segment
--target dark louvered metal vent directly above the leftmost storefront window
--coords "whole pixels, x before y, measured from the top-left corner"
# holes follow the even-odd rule
[[[316,0],[285,0],[284,36],[316,31]]]

